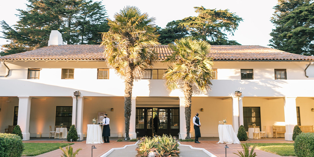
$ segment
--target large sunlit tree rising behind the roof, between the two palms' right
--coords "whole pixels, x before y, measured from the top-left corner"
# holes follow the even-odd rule
[[[211,45],[241,45],[229,41],[226,33],[237,30],[242,18],[226,10],[206,9],[203,6],[194,7],[198,16],[190,16],[181,20],[171,21],[166,28],[159,29],[161,44],[172,43],[184,36],[208,41]]]

